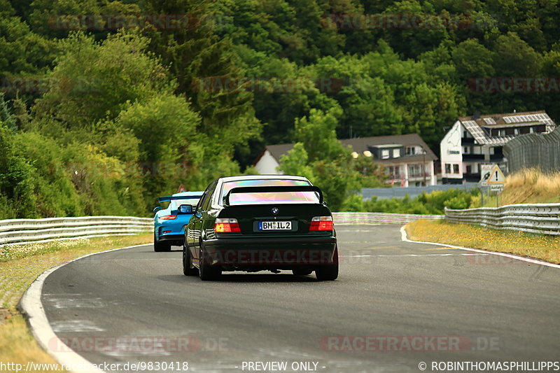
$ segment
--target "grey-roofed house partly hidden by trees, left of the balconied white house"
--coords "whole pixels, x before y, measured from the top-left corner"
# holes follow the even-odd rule
[[[401,186],[435,185],[434,161],[437,156],[418,134],[374,136],[340,140],[351,146],[354,157],[365,155],[385,167],[388,183]],[[293,143],[267,145],[254,162],[259,174],[280,174],[280,157]]]

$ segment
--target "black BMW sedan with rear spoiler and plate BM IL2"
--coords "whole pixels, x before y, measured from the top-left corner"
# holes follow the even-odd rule
[[[337,278],[337,239],[323,194],[302,176],[218,178],[185,230],[183,273],[214,280],[224,271],[263,270]]]

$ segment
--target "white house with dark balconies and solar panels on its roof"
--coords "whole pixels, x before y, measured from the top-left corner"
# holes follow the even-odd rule
[[[442,182],[479,181],[481,164],[505,169],[502,148],[521,134],[552,132],[556,126],[545,111],[473,115],[457,118],[440,143]]]

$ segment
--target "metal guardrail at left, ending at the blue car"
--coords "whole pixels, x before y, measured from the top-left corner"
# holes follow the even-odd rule
[[[0,220],[0,246],[53,239],[137,234],[152,229],[152,218],[134,216]]]

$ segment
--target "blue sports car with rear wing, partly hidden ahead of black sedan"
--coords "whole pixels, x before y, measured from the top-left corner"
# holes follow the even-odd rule
[[[153,251],[171,251],[171,246],[183,246],[185,227],[198,200],[204,192],[181,192],[169,197],[160,197],[169,202],[167,209],[155,207],[153,212]]]

